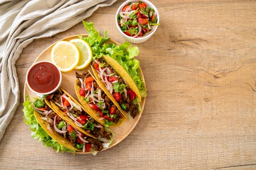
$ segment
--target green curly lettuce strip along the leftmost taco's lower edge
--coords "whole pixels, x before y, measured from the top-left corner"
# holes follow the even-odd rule
[[[34,109],[32,107],[32,102],[29,102],[29,96],[26,96],[26,101],[23,102],[23,112],[24,112],[24,121],[27,125],[30,125],[31,136],[34,139],[38,139],[38,142],[42,142],[45,147],[52,147],[56,152],[58,153],[59,150],[61,152],[71,152],[75,153],[75,150],[69,149],[67,147],[64,147],[63,145],[56,142],[54,139],[52,139],[46,131],[39,125],[37,120],[34,116]]]

